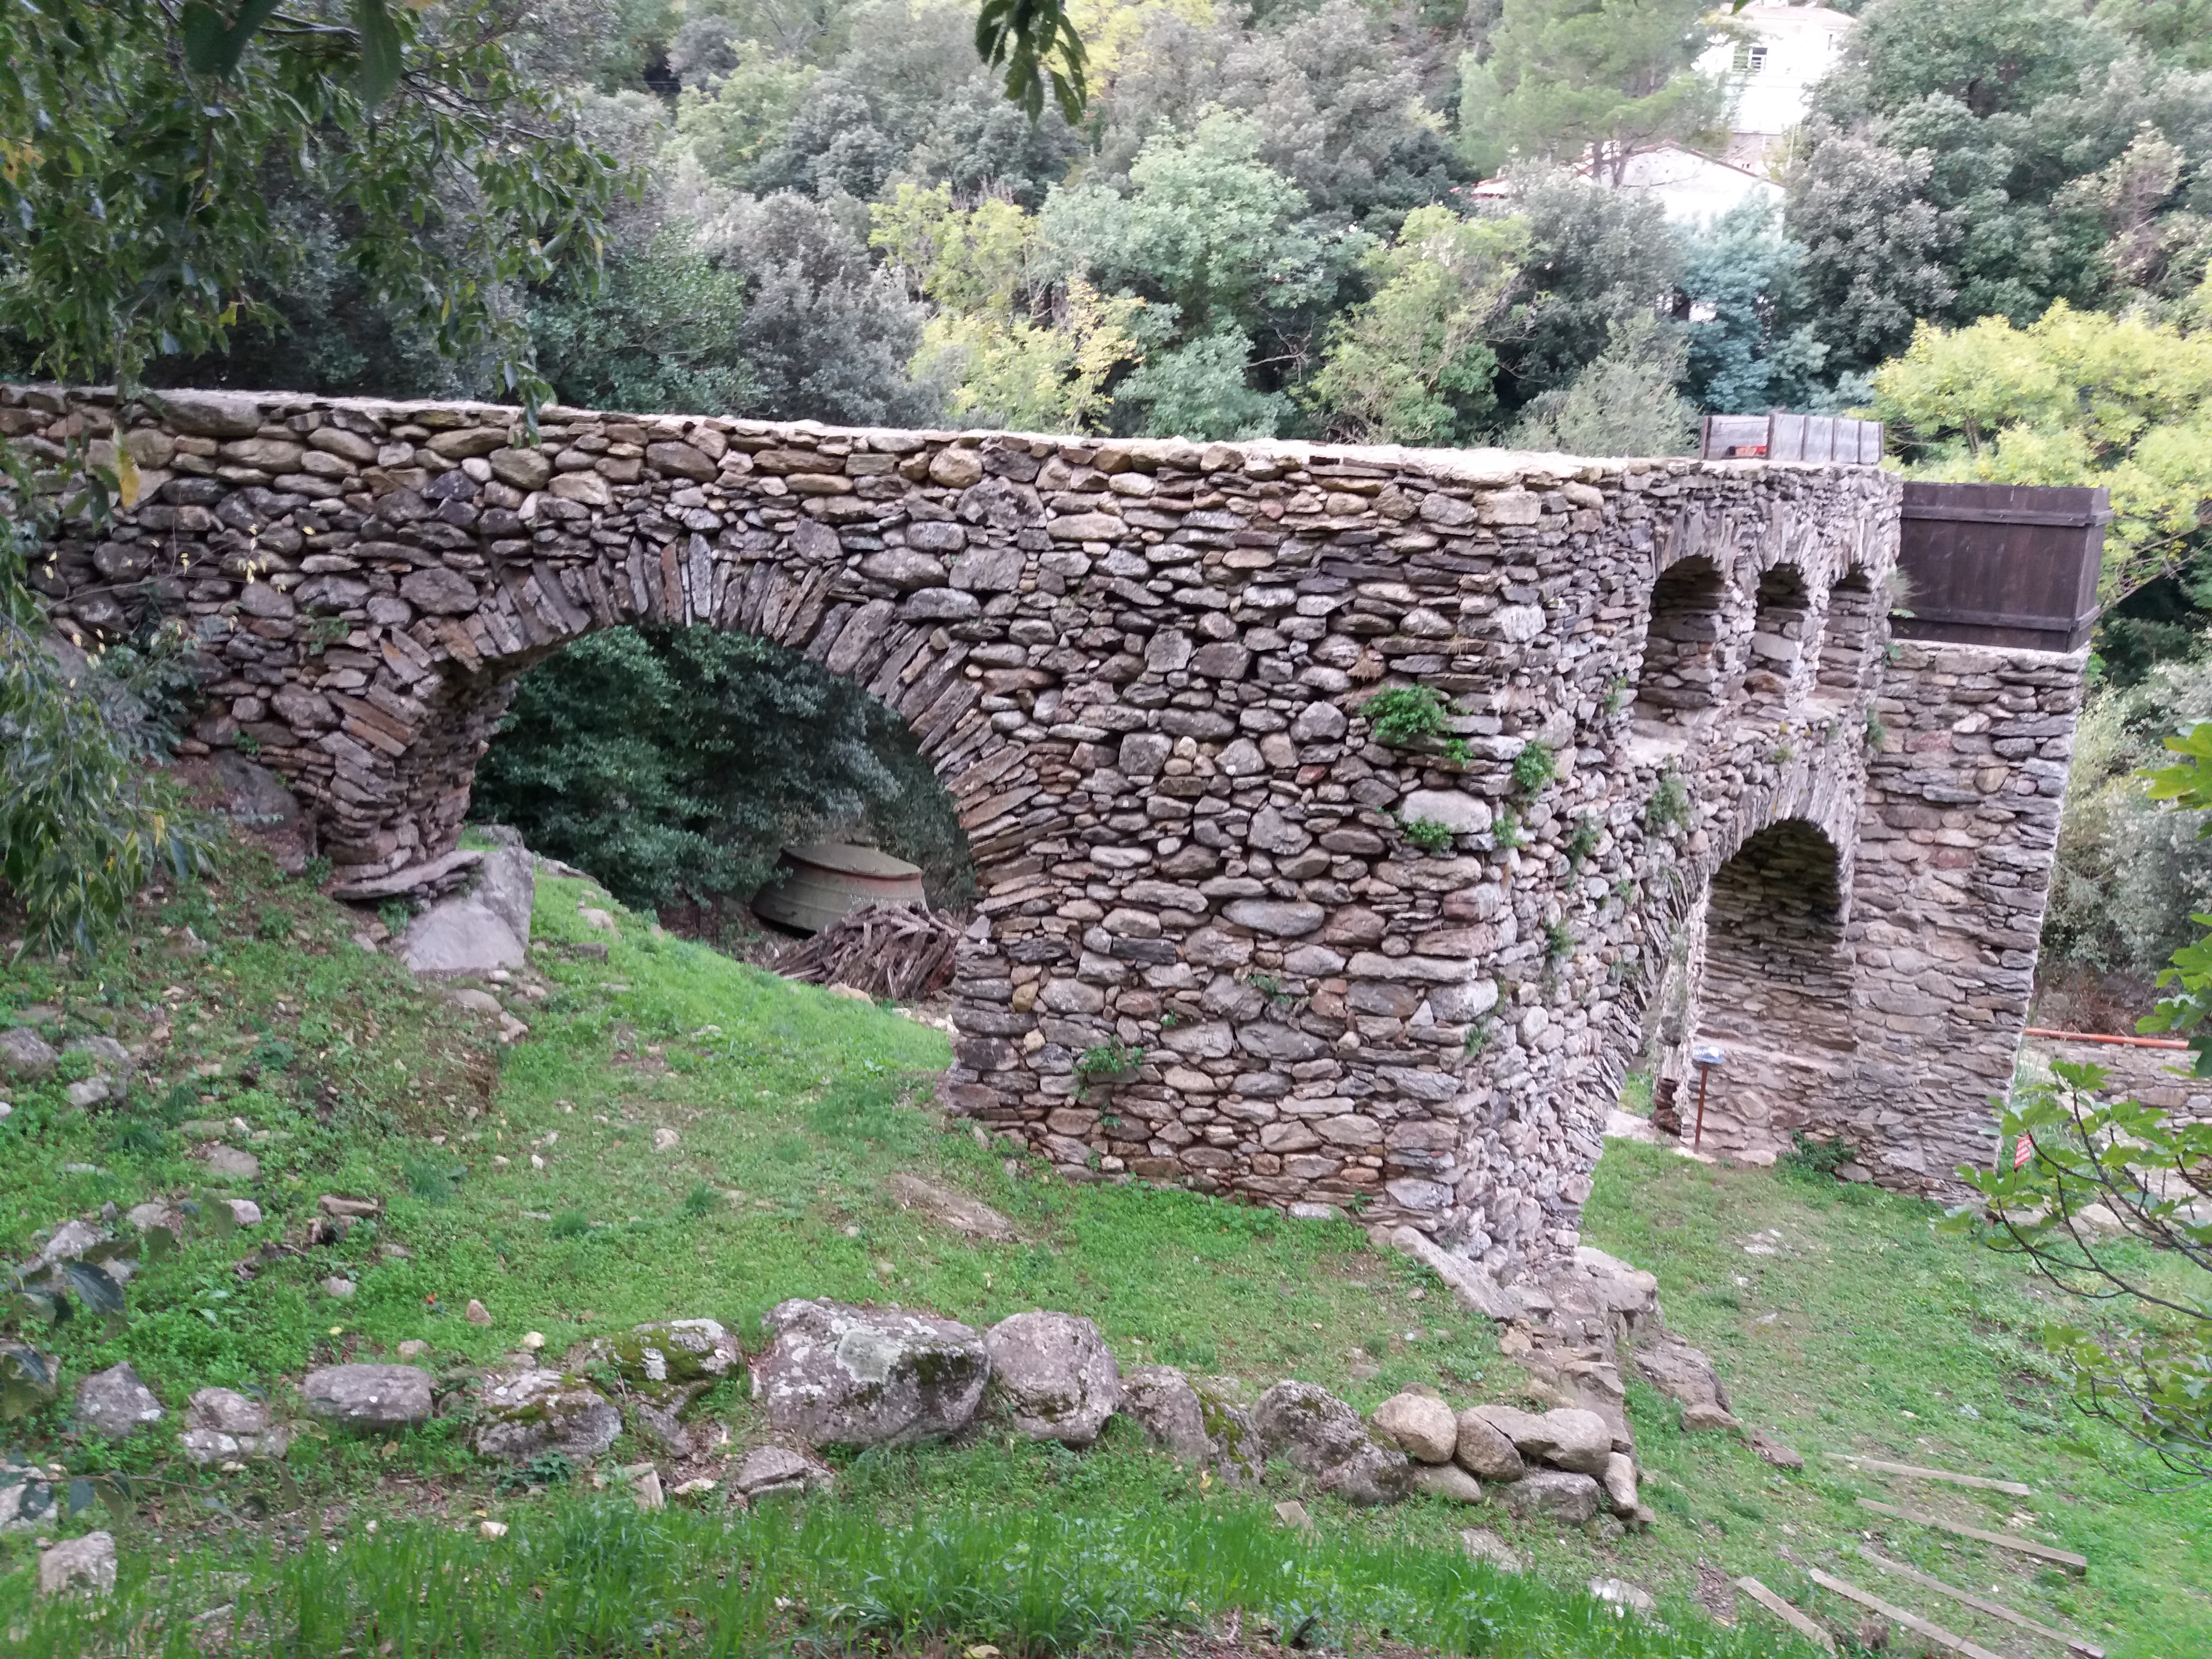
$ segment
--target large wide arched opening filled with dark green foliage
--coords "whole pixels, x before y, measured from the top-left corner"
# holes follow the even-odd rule
[[[787,646],[710,626],[608,628],[524,672],[471,816],[732,947],[794,843],[918,865],[938,907],[975,891],[960,814],[907,721]]]

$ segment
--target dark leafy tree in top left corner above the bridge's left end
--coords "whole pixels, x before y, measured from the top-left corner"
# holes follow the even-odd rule
[[[272,212],[272,181],[296,179],[336,208],[372,303],[538,389],[500,292],[591,252],[617,188],[515,69],[491,0],[358,0],[349,27],[263,0],[4,7],[0,133],[0,310],[31,372],[80,380],[135,380],[265,316],[310,257]]]

